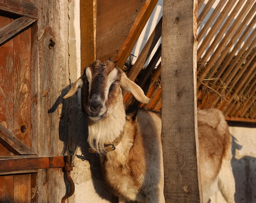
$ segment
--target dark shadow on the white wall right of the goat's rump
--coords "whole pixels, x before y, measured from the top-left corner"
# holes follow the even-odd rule
[[[256,202],[256,158],[243,156],[236,158],[236,151],[242,149],[239,141],[232,136],[232,155],[231,165],[236,182],[235,201],[237,203]],[[254,189],[253,189],[254,188]]]

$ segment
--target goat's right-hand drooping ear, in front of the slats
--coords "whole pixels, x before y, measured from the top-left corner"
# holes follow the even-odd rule
[[[144,91],[139,87],[139,85],[136,85],[132,80],[127,78],[126,74],[122,71],[121,73],[121,80],[120,80],[120,86],[122,89],[125,89],[127,91],[130,91],[132,95],[143,104],[148,104],[150,101],[150,98],[146,97],[144,94]]]

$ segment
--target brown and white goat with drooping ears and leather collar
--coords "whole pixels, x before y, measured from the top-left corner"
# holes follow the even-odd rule
[[[119,202],[164,203],[161,113],[126,111],[124,90],[141,103],[150,99],[110,60],[96,60],[85,68],[63,98],[74,95],[78,88],[83,91],[88,115],[90,151],[101,155],[106,183]],[[204,203],[218,189],[228,203],[234,203],[231,136],[222,113],[199,110],[198,131]]]

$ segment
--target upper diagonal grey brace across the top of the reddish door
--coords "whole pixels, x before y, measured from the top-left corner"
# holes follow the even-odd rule
[[[16,35],[18,32],[20,32],[22,29],[25,29],[29,25],[31,25],[33,22],[35,22],[36,19],[29,18],[29,17],[20,17],[12,22],[10,22],[7,26],[2,27],[0,29],[0,45],[10,38],[12,38],[14,35]]]

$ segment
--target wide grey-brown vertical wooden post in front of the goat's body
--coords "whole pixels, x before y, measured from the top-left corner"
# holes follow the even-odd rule
[[[202,202],[196,108],[196,16],[196,0],[164,0],[162,145],[166,203]]]

